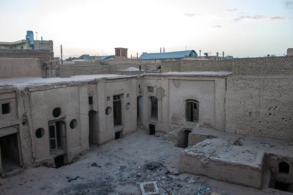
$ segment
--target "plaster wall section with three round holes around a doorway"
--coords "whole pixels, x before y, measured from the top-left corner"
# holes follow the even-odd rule
[[[54,108],[61,108],[60,117],[53,117]],[[68,158],[88,150],[88,96],[86,84],[72,87],[62,87],[30,93],[31,137],[34,142],[34,157],[36,159],[48,158],[49,133],[48,121],[63,120],[66,123],[66,141]],[[77,127],[71,129],[69,123],[72,119],[78,121]],[[44,129],[44,136],[36,137],[36,130]]]

